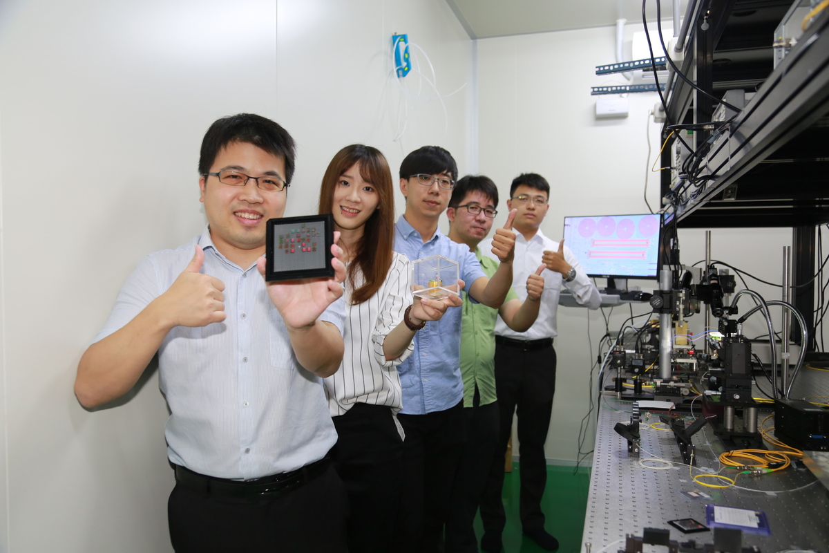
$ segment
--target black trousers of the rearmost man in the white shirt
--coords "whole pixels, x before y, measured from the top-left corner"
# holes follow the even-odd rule
[[[525,531],[544,527],[541,496],[547,483],[544,443],[550,428],[555,394],[555,349],[525,352],[517,347],[495,347],[495,383],[500,408],[498,444],[492,458],[487,487],[481,500],[484,531],[500,534],[507,517],[501,494],[504,455],[512,431],[512,414],[518,415],[518,453],[521,456],[519,512]]]

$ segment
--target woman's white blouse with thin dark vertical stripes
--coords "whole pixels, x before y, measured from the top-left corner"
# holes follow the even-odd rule
[[[356,286],[360,286],[361,276]],[[410,281],[409,259],[395,252],[385,282],[365,302],[351,305],[352,290],[346,284],[347,316],[342,331],[346,349],[339,371],[325,379],[332,416],[345,415],[355,403],[388,405],[395,413],[403,407],[397,366],[411,355],[414,346],[409,344],[400,357],[386,361],[383,341],[403,321],[403,313],[412,303]]]

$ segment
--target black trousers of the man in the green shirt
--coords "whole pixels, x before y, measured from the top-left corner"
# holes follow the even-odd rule
[[[476,399],[478,398],[478,390]],[[477,402],[476,402],[477,403]],[[464,407],[467,441],[463,445],[446,523],[446,553],[478,553],[473,522],[498,444],[498,402]],[[503,461],[501,466],[503,468]]]

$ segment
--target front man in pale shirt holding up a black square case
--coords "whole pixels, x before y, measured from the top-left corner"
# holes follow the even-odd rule
[[[259,115],[212,124],[199,161],[206,229],[138,264],[78,366],[75,395],[90,408],[124,395],[158,352],[179,553],[345,551],[322,390],[342,361],[341,251],[332,246],[332,279],[261,276],[266,221],[283,216],[294,151]]]

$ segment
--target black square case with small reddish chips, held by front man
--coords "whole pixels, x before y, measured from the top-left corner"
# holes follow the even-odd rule
[[[333,243],[331,214],[269,219],[265,280],[331,278]]]

